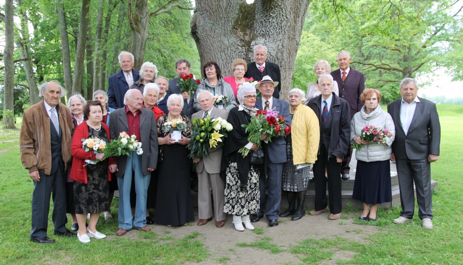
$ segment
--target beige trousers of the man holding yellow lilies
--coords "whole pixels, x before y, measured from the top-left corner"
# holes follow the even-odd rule
[[[215,221],[225,220],[225,182],[220,178],[219,173],[207,173],[206,168],[198,173],[198,212],[200,219],[212,217],[212,199],[210,188],[214,198]]]

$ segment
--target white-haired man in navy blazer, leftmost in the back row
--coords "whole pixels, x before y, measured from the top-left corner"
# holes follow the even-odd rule
[[[133,82],[140,79],[140,72],[133,69],[134,57],[130,52],[119,53],[119,65],[121,70],[108,79],[108,106],[113,109],[123,108],[124,95]]]

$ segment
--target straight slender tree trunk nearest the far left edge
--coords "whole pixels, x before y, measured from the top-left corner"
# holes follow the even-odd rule
[[[5,84],[3,87],[3,124],[5,128],[14,129],[14,6],[13,0],[5,1]]]

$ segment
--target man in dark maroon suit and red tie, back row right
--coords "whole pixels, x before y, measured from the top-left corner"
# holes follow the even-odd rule
[[[339,98],[344,99],[350,106],[350,120],[358,111],[362,109],[363,103],[360,95],[365,89],[365,76],[359,71],[352,69],[349,64],[352,58],[348,51],[342,50],[338,53],[338,70],[331,72],[333,80],[338,82]],[[350,157],[352,150],[349,148],[349,154],[344,157],[341,164],[342,179],[350,179]]]

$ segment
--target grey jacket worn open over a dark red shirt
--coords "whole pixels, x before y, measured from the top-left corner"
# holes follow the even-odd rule
[[[142,142],[142,170],[143,175],[151,174],[148,167],[156,168],[157,166],[157,123],[154,118],[153,111],[141,108],[140,115],[140,137]],[[109,117],[109,131],[111,132],[111,140],[118,139],[119,133],[125,131],[129,133],[127,123],[127,112],[124,108],[117,109],[111,112]],[[125,166],[127,165],[127,156],[121,155],[114,157],[119,171],[116,171],[116,176],[124,177]]]

